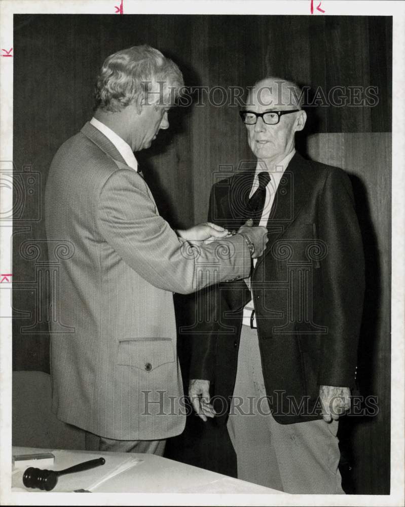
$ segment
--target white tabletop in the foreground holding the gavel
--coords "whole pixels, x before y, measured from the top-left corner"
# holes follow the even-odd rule
[[[72,464],[81,463],[94,457],[104,457],[105,465],[80,472],[61,476],[57,491],[73,491],[88,489],[100,478],[108,475],[108,471],[117,468],[128,459],[137,459],[132,467],[111,477],[96,487],[94,493],[249,493],[249,494],[280,494],[280,491],[240,481],[222,474],[209,472],[203,468],[187,465],[153,454],[112,453],[93,451],[66,451],[54,449],[34,449],[13,447],[13,455],[53,452],[55,463],[48,469],[61,470]],[[39,465],[40,468],[44,468]],[[26,489],[22,483],[23,469],[13,473],[12,491],[39,492],[38,489]],[[285,493],[283,493],[285,494]]]

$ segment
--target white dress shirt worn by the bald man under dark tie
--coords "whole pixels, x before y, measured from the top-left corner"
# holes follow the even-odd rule
[[[266,227],[267,222],[269,220],[271,207],[273,206],[274,197],[276,195],[278,186],[280,184],[281,178],[284,174],[285,169],[287,168],[290,160],[294,156],[296,151],[293,149],[281,162],[279,162],[274,167],[270,169],[267,167],[266,163],[263,160],[257,160],[256,171],[254,174],[252,189],[249,194],[250,197],[254,194],[254,192],[259,188],[259,173],[263,171],[268,171],[270,174],[270,182],[266,187],[266,199],[265,205],[263,207],[263,213],[259,222],[260,226]],[[257,259],[253,259],[253,267],[256,266]],[[245,282],[247,286],[250,288],[250,278],[245,278]],[[249,303],[243,308],[243,324],[250,326],[250,317],[252,314],[252,310],[254,310],[253,306],[253,296]],[[253,317],[253,325],[256,325],[256,319]]]

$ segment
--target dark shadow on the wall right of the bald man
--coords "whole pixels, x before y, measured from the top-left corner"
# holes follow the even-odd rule
[[[381,296],[383,291],[383,280],[381,273],[381,258],[378,244],[378,237],[371,218],[371,210],[367,189],[363,181],[354,174],[349,173],[353,187],[357,217],[360,225],[361,236],[364,248],[365,261],[365,293],[363,318],[361,322],[360,338],[358,344],[357,360],[357,386],[353,392],[358,400],[352,400],[352,407],[355,404],[355,412],[361,415],[343,417],[339,423],[338,437],[341,448],[341,473],[343,486],[348,494],[389,494],[390,492],[390,444],[389,441],[383,445],[386,452],[379,455],[379,469],[382,476],[381,484],[386,485],[384,490],[375,489],[376,485],[371,484],[372,490],[359,490],[358,484],[364,483],[359,480],[359,462],[369,459],[359,449],[356,442],[359,441],[358,433],[366,432],[366,426],[372,422],[373,417],[384,419],[384,424],[390,424],[390,414],[382,413],[372,400],[376,399],[378,393],[377,371],[378,364],[378,340],[381,320]],[[389,262],[389,261],[388,261]],[[382,372],[380,372],[382,373]],[[386,372],[390,376],[390,371]],[[380,393],[381,395],[381,393]],[[389,393],[383,393],[389,396]],[[389,401],[385,400],[385,406]],[[353,409],[354,410],[354,409]],[[377,410],[377,413],[376,413]],[[380,420],[380,423],[382,421]]]

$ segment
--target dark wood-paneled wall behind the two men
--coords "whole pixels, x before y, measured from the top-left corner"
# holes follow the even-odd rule
[[[14,164],[26,192],[29,167],[34,175],[32,193],[16,190],[15,197],[19,204],[25,196],[14,223],[14,370],[49,371],[48,325],[41,316],[46,284],[39,292],[40,263],[47,258],[45,182],[60,144],[92,115],[95,77],[106,56],[147,43],[179,65],[186,85],[220,86],[228,93],[222,106],[209,103],[203,93],[204,105],[194,101],[173,110],[171,128],[151,149],[136,154],[162,215],[174,227],[204,221],[220,166],[236,168],[251,159],[239,107],[229,104],[231,87],[250,86],[268,75],[309,86],[312,97],[319,87],[326,94],[334,86],[347,93],[349,87],[378,87],[374,107],[308,107],[306,134],[298,146],[352,177],[367,261],[360,378],[365,393],[379,396],[380,412],[351,425],[348,438],[355,491],[387,493],[392,19],[15,15],[14,29]],[[214,99],[218,102],[220,95]],[[28,255],[28,244],[40,257]]]

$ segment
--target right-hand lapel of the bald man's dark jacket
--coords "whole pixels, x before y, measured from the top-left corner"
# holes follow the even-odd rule
[[[277,188],[267,222],[269,242],[263,256],[257,259],[255,269],[271,251],[272,245],[296,220],[313,188],[312,178],[311,164],[296,153],[288,164]]]

